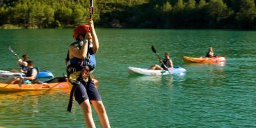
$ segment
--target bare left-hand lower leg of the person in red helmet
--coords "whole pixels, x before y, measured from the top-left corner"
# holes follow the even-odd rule
[[[84,122],[87,124],[87,127],[94,128],[95,124],[93,121],[92,108],[90,106],[89,100],[84,100],[84,102],[80,104],[80,107],[83,110]]]

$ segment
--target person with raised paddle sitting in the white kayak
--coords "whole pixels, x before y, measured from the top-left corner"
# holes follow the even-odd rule
[[[173,68],[173,63],[172,60],[170,59],[170,54],[168,52],[165,52],[164,54],[164,60],[161,60],[159,58],[159,62],[161,63],[161,66],[155,64],[149,69],[151,70],[172,70]]]

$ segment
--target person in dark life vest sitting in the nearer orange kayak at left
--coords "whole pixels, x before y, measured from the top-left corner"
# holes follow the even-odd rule
[[[34,68],[33,61],[27,61],[28,62],[28,71],[26,72],[26,77],[20,76],[14,77],[10,84],[33,84],[35,83],[36,76],[38,74],[38,70]]]

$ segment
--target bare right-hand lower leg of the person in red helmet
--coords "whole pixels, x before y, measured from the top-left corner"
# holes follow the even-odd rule
[[[109,128],[110,124],[108,120],[108,115],[102,101],[90,100],[90,102],[92,103],[97,115],[99,116],[102,128]]]

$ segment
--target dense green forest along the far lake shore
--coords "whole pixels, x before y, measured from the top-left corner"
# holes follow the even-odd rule
[[[256,0],[95,0],[107,28],[256,29]],[[0,0],[0,26],[66,28],[86,22],[89,0]]]

